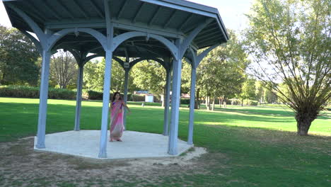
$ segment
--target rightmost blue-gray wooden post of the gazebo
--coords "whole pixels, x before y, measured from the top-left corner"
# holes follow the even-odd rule
[[[191,90],[190,90],[190,117],[189,117],[189,132],[187,144],[193,144],[193,126],[194,126],[194,106],[195,106],[195,82],[197,79],[197,70],[192,67],[191,71]]]

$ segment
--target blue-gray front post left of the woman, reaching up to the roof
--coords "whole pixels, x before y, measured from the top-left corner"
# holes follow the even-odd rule
[[[105,18],[107,23],[107,40],[105,40],[105,77],[103,81],[103,114],[101,117],[99,158],[107,158],[108,112],[110,101],[110,83],[112,78],[112,42],[114,37],[114,26],[110,23],[109,1],[104,0],[103,3],[105,6]]]

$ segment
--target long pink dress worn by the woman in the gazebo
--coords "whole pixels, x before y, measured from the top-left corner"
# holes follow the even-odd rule
[[[110,139],[120,140],[124,131],[122,101],[112,102],[112,113],[110,118]]]

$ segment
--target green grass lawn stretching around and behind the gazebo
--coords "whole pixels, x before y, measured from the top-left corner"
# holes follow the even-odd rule
[[[0,98],[0,142],[37,132],[38,99]],[[49,100],[47,133],[74,129],[76,101]],[[100,101],[83,101],[81,129],[100,130]],[[161,133],[163,108],[129,103],[127,130]],[[310,136],[296,136],[286,108],[240,107],[196,111],[194,145],[209,154],[205,174],[165,176],[150,186],[331,186],[330,111],[313,121]],[[188,108],[180,109],[178,135],[187,140]],[[1,178],[1,177],[0,177]]]

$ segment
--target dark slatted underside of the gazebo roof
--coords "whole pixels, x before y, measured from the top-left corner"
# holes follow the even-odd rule
[[[33,32],[7,4],[23,10],[42,30],[57,32],[64,28],[94,28],[100,33],[106,33],[103,0],[4,1],[13,27]],[[182,0],[110,0],[109,8],[115,36],[139,30],[174,40],[189,35],[199,24],[209,20],[210,23],[194,38],[192,47],[198,50],[228,40],[219,11],[209,6]],[[98,40],[86,33],[66,35],[55,47],[100,54],[104,52]],[[126,54],[129,57],[166,57],[170,52],[157,40],[137,37],[123,42],[114,55],[125,57]]]

